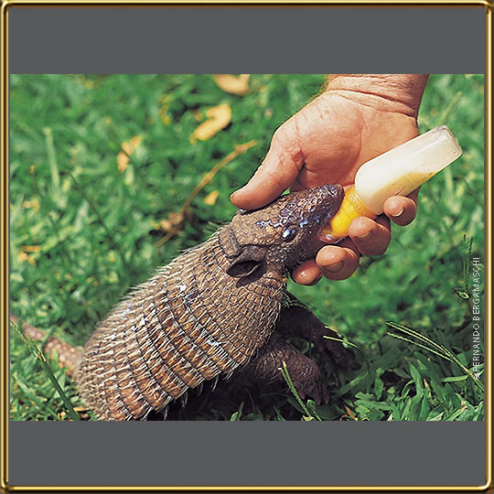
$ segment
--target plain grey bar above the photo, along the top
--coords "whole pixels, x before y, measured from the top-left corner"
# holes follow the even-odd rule
[[[483,73],[482,7],[9,10],[11,73]]]

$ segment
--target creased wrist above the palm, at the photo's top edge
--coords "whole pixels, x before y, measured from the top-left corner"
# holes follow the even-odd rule
[[[416,118],[427,78],[426,74],[330,74],[326,91]]]

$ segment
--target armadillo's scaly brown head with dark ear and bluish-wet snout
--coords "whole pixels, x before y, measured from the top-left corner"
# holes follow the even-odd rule
[[[326,185],[292,192],[263,209],[240,210],[231,221],[236,252],[227,273],[291,271],[324,245],[318,233],[338,211],[343,188]],[[230,256],[229,256],[230,257]]]

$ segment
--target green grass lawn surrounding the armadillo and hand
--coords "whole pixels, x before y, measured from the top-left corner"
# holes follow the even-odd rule
[[[251,177],[276,127],[322,81],[319,75],[252,76],[250,91],[239,97],[208,75],[13,76],[11,312],[82,345],[131,286],[204,240],[209,222],[231,218],[231,191]],[[231,124],[191,145],[198,113],[221,102],[231,105]],[[464,268],[469,239],[470,255],[483,260],[484,252],[483,102],[482,76],[431,77],[420,130],[447,124],[463,156],[424,186],[417,220],[393,229],[385,255],[362,259],[342,282],[290,283],[354,349],[347,370],[315,355],[328,377],[330,403],[301,406],[288,387],[246,389],[220,381],[215,392],[206,386],[191,395],[186,408],[171,406],[171,418],[483,420],[481,384],[465,370],[473,329],[472,278]],[[142,143],[122,173],[117,155],[135,135]],[[199,192],[183,230],[156,246],[165,235],[160,221],[181,208],[235,145],[252,140],[256,145]],[[209,205],[204,199],[213,191],[218,199]],[[11,419],[68,420],[64,399],[88,418],[70,378],[48,362],[62,399],[46,365],[15,330],[10,355]]]

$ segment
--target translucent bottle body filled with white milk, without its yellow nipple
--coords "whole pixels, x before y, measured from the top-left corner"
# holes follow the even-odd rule
[[[407,196],[459,156],[461,147],[451,131],[446,125],[435,127],[360,166],[355,191],[379,215],[386,199]]]

